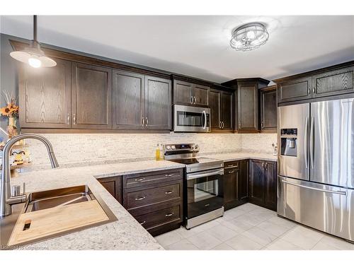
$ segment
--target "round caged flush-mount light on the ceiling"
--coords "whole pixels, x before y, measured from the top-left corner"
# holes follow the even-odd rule
[[[236,51],[251,51],[267,42],[269,37],[262,23],[247,23],[236,28],[232,33],[230,45]]]

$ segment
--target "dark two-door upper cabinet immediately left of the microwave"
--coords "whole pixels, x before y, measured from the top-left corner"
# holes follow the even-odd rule
[[[113,129],[171,129],[171,81],[114,70]]]

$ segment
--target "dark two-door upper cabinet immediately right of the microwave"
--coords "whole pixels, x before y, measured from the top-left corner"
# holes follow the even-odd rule
[[[234,94],[212,89],[209,98],[212,131],[233,131]]]

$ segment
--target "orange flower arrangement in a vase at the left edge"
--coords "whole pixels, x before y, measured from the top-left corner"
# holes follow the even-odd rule
[[[13,94],[8,93],[8,91],[4,92],[6,107],[0,108],[1,116],[8,118],[8,138],[12,138],[18,134],[16,128],[16,117],[18,117],[18,105],[16,105],[16,99],[13,97]]]

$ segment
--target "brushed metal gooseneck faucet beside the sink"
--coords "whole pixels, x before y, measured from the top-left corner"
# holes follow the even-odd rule
[[[19,204],[26,200],[25,194],[19,196],[11,196],[11,180],[10,180],[10,151],[12,146],[22,139],[37,139],[45,144],[52,168],[59,167],[57,158],[53,151],[52,143],[43,136],[38,134],[20,134],[9,140],[4,146],[2,158],[2,172],[0,182],[0,218],[4,218],[12,213],[12,204]]]

